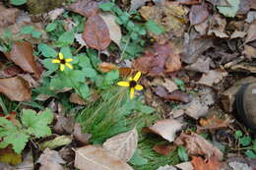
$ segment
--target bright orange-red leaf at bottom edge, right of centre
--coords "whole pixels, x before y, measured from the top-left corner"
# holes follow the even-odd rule
[[[223,166],[215,156],[210,157],[207,161],[202,157],[192,156],[191,163],[195,170],[221,170]]]

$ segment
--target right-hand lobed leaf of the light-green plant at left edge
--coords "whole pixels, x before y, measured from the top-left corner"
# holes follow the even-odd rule
[[[33,110],[23,110],[22,123],[26,126],[27,132],[36,138],[51,135],[51,130],[47,126],[53,120],[53,113],[50,109],[36,114]]]

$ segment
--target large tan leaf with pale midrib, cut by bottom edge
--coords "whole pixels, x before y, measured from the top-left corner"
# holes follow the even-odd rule
[[[96,145],[76,150],[75,167],[80,170],[133,170],[126,162]]]

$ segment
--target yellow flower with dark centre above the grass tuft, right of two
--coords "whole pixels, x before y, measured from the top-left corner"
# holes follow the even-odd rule
[[[133,99],[135,89],[136,90],[143,89],[143,86],[138,84],[138,81],[141,78],[141,75],[142,75],[141,72],[137,72],[134,78],[129,78],[129,82],[118,82],[117,85],[130,87],[130,98]]]

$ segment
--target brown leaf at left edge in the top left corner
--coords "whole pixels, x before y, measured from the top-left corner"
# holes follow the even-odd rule
[[[5,8],[4,5],[0,3],[0,28],[14,25],[18,15],[19,10],[17,8]]]

